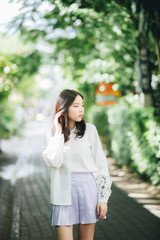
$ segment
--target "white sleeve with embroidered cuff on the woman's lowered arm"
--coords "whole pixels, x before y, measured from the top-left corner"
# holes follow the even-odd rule
[[[96,183],[98,187],[98,201],[108,202],[111,195],[112,180],[109,176],[107,159],[102,149],[101,141],[94,125],[91,135],[92,157],[98,169]]]

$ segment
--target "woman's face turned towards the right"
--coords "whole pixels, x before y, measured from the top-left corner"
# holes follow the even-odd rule
[[[80,95],[77,95],[74,102],[68,108],[68,117],[70,120],[80,122],[84,114],[84,102]]]

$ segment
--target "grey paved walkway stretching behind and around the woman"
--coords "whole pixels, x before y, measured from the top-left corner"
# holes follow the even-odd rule
[[[1,240],[56,240],[55,229],[49,225],[50,169],[44,164],[41,156],[44,146],[42,131],[36,129],[37,125],[34,123],[26,128],[26,138],[18,143],[19,156],[16,163],[14,159],[13,165],[7,163],[7,166],[2,168],[5,163],[2,159],[0,161],[0,169],[4,173],[0,172]],[[160,218],[137,202],[133,198],[134,194],[129,195],[135,193],[130,183],[138,178],[132,174],[132,177],[127,175],[130,173],[123,174],[124,172],[115,166],[113,159],[109,159],[109,164],[114,180],[112,195],[107,219],[97,222],[94,239],[159,240]],[[124,179],[125,175],[130,176],[131,182],[128,180],[128,185],[126,178]],[[136,187],[138,189],[140,185],[140,189],[143,190],[139,181],[138,179]],[[151,191],[148,195],[159,207],[158,189],[156,191],[154,197],[149,194]],[[147,199],[149,200],[149,197]],[[78,226],[74,225],[74,240],[78,239],[77,230]]]

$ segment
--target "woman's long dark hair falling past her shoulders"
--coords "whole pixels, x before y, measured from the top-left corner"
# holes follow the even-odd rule
[[[53,114],[53,121],[55,118],[55,115],[57,112],[61,111],[62,115],[59,117],[59,122],[62,124],[62,133],[64,134],[64,142],[67,142],[69,140],[70,136],[70,130],[69,130],[69,118],[68,118],[68,108],[71,106],[71,104],[74,102],[75,98],[77,96],[81,96],[83,99],[83,96],[81,93],[71,90],[71,89],[64,89],[58,96],[56,105],[55,105],[55,111]],[[82,138],[85,130],[86,130],[86,123],[85,120],[82,119],[80,122],[75,122],[76,129],[76,137]],[[52,128],[52,135],[54,134],[54,126]]]

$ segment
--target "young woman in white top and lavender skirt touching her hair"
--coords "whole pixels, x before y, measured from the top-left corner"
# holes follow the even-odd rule
[[[83,119],[81,93],[65,89],[57,99],[43,158],[51,167],[51,215],[58,240],[93,240],[95,224],[106,219],[111,178],[99,135]]]

